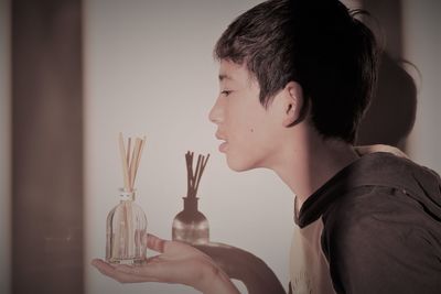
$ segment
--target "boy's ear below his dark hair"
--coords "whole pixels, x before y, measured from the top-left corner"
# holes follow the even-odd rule
[[[302,87],[295,83],[290,81],[283,88],[283,127],[292,127],[304,118],[305,101],[303,97]]]

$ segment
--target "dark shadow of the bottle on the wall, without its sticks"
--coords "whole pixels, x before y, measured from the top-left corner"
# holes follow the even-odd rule
[[[197,209],[197,197],[183,197],[184,210],[173,219],[172,239],[192,244],[209,241],[209,227],[206,217]]]

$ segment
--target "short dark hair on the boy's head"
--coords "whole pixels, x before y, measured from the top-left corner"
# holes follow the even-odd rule
[[[246,64],[265,107],[289,81],[299,83],[318,131],[354,143],[377,72],[375,37],[354,18],[359,12],[337,0],[266,1],[227,28],[214,55]]]

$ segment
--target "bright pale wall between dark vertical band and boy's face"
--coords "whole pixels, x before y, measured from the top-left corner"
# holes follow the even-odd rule
[[[213,241],[257,254],[288,284],[292,195],[272,173],[236,174],[207,119],[217,95],[216,39],[259,1],[85,1],[86,264],[105,254],[105,221],[122,185],[119,131],[147,134],[138,203],[149,230],[171,238],[186,193],[184,153],[211,153],[200,186]],[[88,293],[194,293],[119,285],[86,268]]]

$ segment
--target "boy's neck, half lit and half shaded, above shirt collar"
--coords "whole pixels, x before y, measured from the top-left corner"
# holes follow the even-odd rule
[[[338,171],[358,159],[353,145],[346,142],[323,140],[311,130],[300,132],[283,148],[283,161],[271,167],[297,195],[298,209]]]

